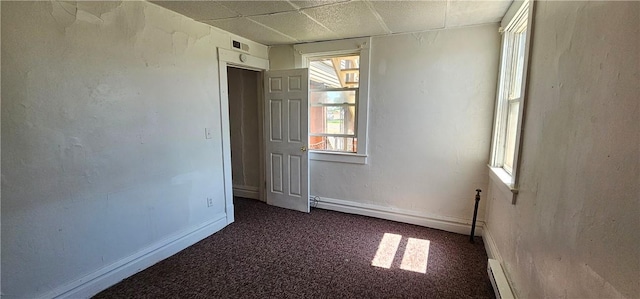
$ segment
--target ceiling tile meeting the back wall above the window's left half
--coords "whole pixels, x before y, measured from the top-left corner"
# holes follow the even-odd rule
[[[299,41],[308,42],[338,38],[335,33],[318,25],[312,19],[297,11],[250,17],[250,19]],[[292,24],[295,24],[295,26],[292,26]]]

